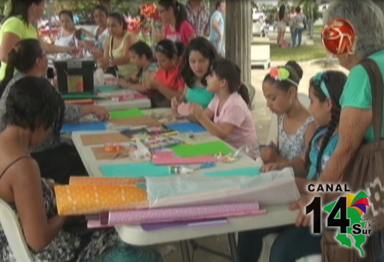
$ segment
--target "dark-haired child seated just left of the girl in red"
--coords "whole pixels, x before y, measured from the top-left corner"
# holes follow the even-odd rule
[[[132,63],[137,66],[139,72],[135,76],[119,80],[119,86],[139,92],[145,92],[145,81],[155,80],[157,63],[154,63],[151,48],[143,41],[131,45],[129,55]]]

